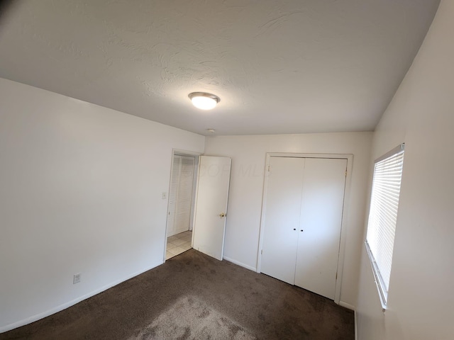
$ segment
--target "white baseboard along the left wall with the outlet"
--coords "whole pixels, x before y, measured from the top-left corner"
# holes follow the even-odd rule
[[[61,312],[62,310],[65,310],[67,309],[68,307],[71,307],[73,305],[76,305],[77,303],[83,301],[83,300],[86,300],[88,299],[89,297],[92,297],[96,294],[99,294],[101,292],[104,292],[104,290],[108,290],[109,288],[112,288],[114,287],[114,285],[118,285],[126,280],[129,280],[130,278],[133,278],[135,276],[138,276],[142,273],[145,273],[145,271],[149,271],[150,269],[153,269],[157,266],[160,266],[162,263],[164,262],[161,262],[161,263],[157,263],[156,265],[153,265],[153,266],[150,266],[149,268],[145,268],[143,271],[138,271],[136,273],[133,273],[131,275],[128,275],[126,276],[125,278],[122,278],[120,280],[116,280],[112,283],[109,283],[107,285],[104,285],[103,287],[101,288],[98,288],[96,290],[93,290],[92,292],[90,293],[87,293],[85,295],[82,295],[80,297],[77,297],[76,299],[74,300],[71,300],[71,301],[68,301],[68,302],[65,302],[63,303],[62,305],[58,305],[57,307],[54,307],[50,310],[47,310],[45,312],[42,312],[42,313],[39,313],[39,314],[35,314],[33,315],[32,317],[28,317],[26,319],[22,319],[18,322],[14,322],[13,324],[7,324],[6,326],[4,327],[0,327],[0,333],[4,333],[5,331],[11,331],[11,329],[15,329],[15,328],[18,328],[18,327],[21,327],[21,326],[25,326],[26,324],[31,324],[32,322],[35,322],[35,321],[38,321],[40,319],[43,319],[45,317],[48,317],[49,315],[52,315],[52,314],[55,314],[57,312]]]

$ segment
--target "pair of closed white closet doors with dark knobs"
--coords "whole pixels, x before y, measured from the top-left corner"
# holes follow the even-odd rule
[[[270,157],[260,271],[334,300],[347,159]]]

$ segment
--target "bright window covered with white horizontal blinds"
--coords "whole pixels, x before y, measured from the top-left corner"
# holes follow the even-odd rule
[[[387,304],[403,164],[404,144],[375,161],[372,180],[365,244],[383,309]]]

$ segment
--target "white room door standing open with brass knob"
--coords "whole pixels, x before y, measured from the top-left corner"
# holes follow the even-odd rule
[[[231,159],[201,156],[192,247],[222,260]]]

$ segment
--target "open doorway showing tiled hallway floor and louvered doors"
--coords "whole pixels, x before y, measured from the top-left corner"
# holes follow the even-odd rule
[[[192,248],[198,161],[198,155],[173,152],[167,209],[166,260]]]

